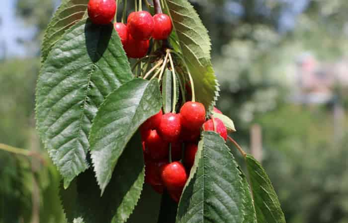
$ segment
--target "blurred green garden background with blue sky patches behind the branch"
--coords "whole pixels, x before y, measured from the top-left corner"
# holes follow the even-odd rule
[[[212,39],[217,107],[261,160],[287,222],[348,223],[348,1],[191,2]],[[1,4],[0,143],[38,155],[0,150],[0,223],[63,223],[34,119],[40,42],[59,1]]]

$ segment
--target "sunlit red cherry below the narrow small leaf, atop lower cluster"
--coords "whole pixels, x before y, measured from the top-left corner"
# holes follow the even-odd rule
[[[158,133],[167,142],[176,142],[180,136],[181,117],[180,114],[166,113],[162,115]]]

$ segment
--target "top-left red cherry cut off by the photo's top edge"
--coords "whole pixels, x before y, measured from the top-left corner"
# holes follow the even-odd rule
[[[105,25],[112,21],[116,8],[115,0],[89,0],[88,17],[94,24]]]

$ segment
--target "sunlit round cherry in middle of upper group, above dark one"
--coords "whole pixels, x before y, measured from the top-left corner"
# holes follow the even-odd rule
[[[129,18],[130,17],[130,18]],[[148,11],[132,12],[127,19],[127,27],[135,40],[149,40],[154,31],[154,19]]]

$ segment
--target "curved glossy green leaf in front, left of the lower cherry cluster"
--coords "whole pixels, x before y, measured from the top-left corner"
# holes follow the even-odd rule
[[[100,106],[93,120],[89,142],[101,193],[132,135],[161,107],[157,79],[133,79],[112,92]]]

